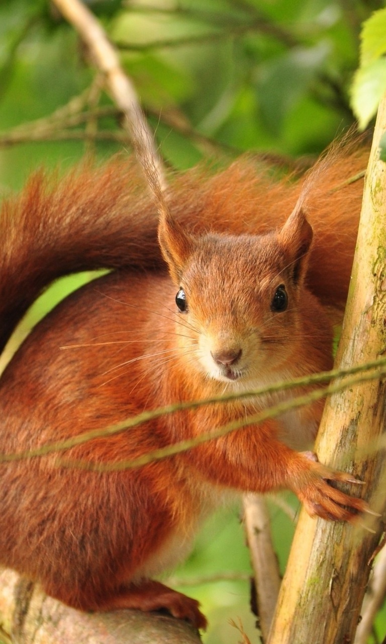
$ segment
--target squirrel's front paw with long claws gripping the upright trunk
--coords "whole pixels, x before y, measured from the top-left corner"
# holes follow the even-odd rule
[[[299,478],[299,486],[295,489],[297,497],[311,516],[321,516],[330,521],[355,522],[358,515],[372,511],[362,498],[351,497],[333,487],[333,482],[341,481],[362,485],[352,475],[345,472],[333,471],[318,462],[312,452],[303,452],[308,459],[308,471]]]

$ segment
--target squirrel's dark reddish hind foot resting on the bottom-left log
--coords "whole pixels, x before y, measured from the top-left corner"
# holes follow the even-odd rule
[[[173,591],[160,582],[143,580],[122,587],[119,593],[109,598],[101,609],[137,609],[139,611],[168,611],[179,620],[187,620],[197,629],[207,628],[207,619],[199,610],[199,602]]]

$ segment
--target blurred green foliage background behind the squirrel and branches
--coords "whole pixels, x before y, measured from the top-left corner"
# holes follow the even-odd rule
[[[120,50],[161,154],[176,169],[244,151],[270,152],[286,164],[317,155],[354,122],[349,87],[358,66],[360,26],[383,6],[378,0],[87,0],[87,5]],[[42,164],[66,168],[90,151],[103,160],[122,146],[129,149],[120,115],[95,82],[71,26],[46,0],[0,0],[1,192],[20,187]],[[33,321],[78,284],[71,279],[35,305]],[[293,522],[275,504],[271,515],[284,570]],[[250,571],[248,551],[238,511],[224,509],[176,575],[235,571]],[[207,644],[239,641],[228,625],[229,618],[239,617],[256,641],[248,582],[197,583],[192,594],[210,620]],[[384,633],[381,617],[378,626]]]

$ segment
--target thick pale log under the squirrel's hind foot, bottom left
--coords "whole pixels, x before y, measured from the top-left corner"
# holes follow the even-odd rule
[[[86,613],[0,570],[0,641],[13,644],[201,644],[187,622],[141,611]]]

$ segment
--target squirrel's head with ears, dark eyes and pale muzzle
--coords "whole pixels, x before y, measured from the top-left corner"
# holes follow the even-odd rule
[[[159,240],[176,285],[182,342],[198,370],[226,383],[285,371],[302,342],[300,298],[313,232],[302,209],[268,234],[194,236],[169,212]]]

